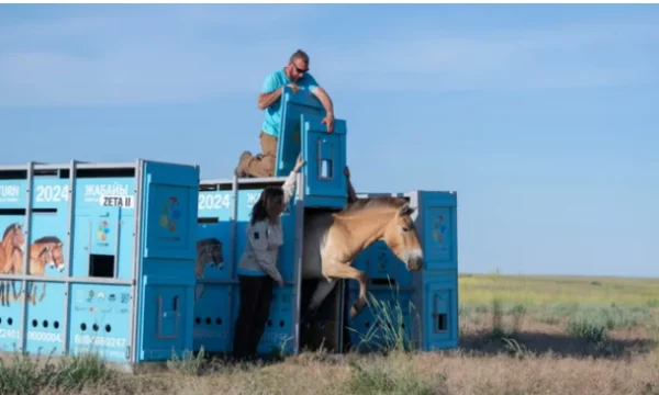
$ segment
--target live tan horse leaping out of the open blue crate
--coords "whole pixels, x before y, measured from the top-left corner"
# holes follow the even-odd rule
[[[360,199],[338,213],[321,213],[304,221],[303,279],[320,281],[303,320],[313,316],[336,285],[336,279],[359,282],[359,298],[350,308],[354,318],[367,305],[367,275],[353,267],[357,256],[382,240],[409,271],[422,268],[423,252],[404,198]]]

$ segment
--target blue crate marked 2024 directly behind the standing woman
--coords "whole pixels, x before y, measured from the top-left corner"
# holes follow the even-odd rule
[[[198,198],[198,244],[205,249],[197,262],[194,341],[199,351],[226,353],[233,350],[235,320],[239,308],[237,264],[247,242],[246,230],[254,204],[267,185],[281,185],[286,178],[203,180]],[[278,268],[287,283],[276,286],[270,316],[258,351],[291,352],[294,338],[294,279],[297,201],[281,216],[284,242]],[[217,253],[211,253],[213,248]]]

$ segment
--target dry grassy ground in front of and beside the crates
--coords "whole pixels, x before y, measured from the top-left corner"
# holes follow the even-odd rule
[[[466,279],[467,284],[460,279],[461,300],[469,301],[470,292],[481,300],[472,295],[461,306],[459,350],[393,350],[387,356],[316,352],[246,368],[192,358],[174,361],[166,371],[138,375],[108,373],[89,362],[68,369],[77,372],[75,379],[44,376],[34,381],[38,387],[23,392],[2,383],[25,383],[29,376],[18,372],[30,370],[0,365],[0,393],[68,394],[81,383],[82,394],[659,395],[659,326],[651,302],[657,295],[647,285],[651,282],[634,286],[633,280],[597,279],[599,285],[592,285],[592,279],[540,279],[540,293],[550,292],[554,281],[562,295],[577,295],[545,304],[527,297],[528,279],[520,280],[522,291],[515,291],[511,278],[495,279],[499,290],[490,279]],[[479,281],[487,291],[478,287]],[[615,291],[579,303],[588,286]],[[489,301],[482,298],[487,293]],[[616,304],[621,294],[636,305]],[[400,342],[391,345],[400,348]],[[38,372],[30,374],[38,379]]]

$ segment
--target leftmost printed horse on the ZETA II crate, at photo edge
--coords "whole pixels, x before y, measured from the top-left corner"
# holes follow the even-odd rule
[[[0,273],[20,273],[16,268],[22,267],[23,253],[25,252],[25,235],[23,225],[11,224],[4,229],[0,248]],[[11,281],[14,297],[16,296],[14,280],[0,281],[0,300],[2,306],[9,305],[9,282]]]

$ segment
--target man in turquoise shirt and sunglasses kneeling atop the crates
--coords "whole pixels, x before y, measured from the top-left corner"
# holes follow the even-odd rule
[[[235,174],[238,177],[273,177],[277,158],[277,142],[279,138],[279,125],[281,122],[280,98],[283,88],[289,87],[294,93],[306,90],[313,93],[323,106],[327,115],[323,124],[327,125],[327,133],[334,132],[334,105],[330,95],[309,74],[309,55],[298,49],[289,59],[289,64],[266,77],[261,92],[258,95],[258,108],[266,111],[261,132],[259,135],[261,154],[252,155],[244,151],[241,155]]]

